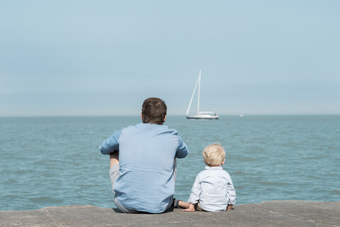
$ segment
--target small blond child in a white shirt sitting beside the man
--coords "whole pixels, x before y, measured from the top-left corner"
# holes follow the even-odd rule
[[[205,170],[200,172],[193,183],[188,202],[177,200],[176,206],[183,211],[225,211],[231,210],[236,202],[232,178],[223,170],[225,150],[221,145],[211,144],[203,150]]]

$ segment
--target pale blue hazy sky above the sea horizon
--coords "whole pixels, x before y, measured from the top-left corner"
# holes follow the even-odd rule
[[[0,116],[340,114],[340,1],[0,1]],[[195,106],[193,106],[195,108]]]

